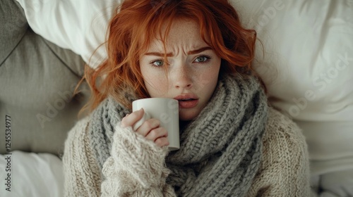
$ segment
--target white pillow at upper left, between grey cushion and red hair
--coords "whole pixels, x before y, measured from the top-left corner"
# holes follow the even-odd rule
[[[45,39],[64,49],[71,49],[92,68],[107,57],[102,44],[109,19],[121,0],[17,1],[23,7],[32,30]],[[92,56],[95,49],[97,51]]]

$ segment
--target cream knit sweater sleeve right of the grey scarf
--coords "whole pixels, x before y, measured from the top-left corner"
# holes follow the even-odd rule
[[[270,109],[263,160],[248,196],[311,196],[309,154],[301,129]]]

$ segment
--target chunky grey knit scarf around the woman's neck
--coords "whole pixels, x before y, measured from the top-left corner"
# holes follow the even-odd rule
[[[126,113],[107,98],[91,115],[88,132],[101,169],[114,125]],[[255,77],[221,77],[208,105],[181,131],[181,148],[167,155],[172,171],[167,184],[178,196],[245,196],[261,163],[267,115],[267,99]]]

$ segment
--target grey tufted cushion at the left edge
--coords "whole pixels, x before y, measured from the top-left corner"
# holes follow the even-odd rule
[[[0,153],[7,152],[8,115],[12,151],[61,155],[89,97],[85,84],[73,96],[85,63],[32,32],[16,1],[0,2],[0,25]]]

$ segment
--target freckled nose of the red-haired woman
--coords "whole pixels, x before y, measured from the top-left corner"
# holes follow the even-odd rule
[[[192,73],[185,65],[182,65],[178,68],[169,72],[170,79],[172,80],[172,84],[177,89],[189,89],[193,86]]]

